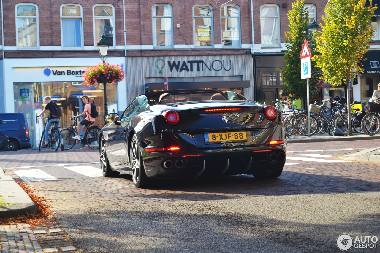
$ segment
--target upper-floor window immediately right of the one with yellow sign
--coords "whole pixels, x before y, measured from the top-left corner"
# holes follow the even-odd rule
[[[237,5],[226,5],[220,9],[222,19],[222,46],[240,47],[240,9]]]

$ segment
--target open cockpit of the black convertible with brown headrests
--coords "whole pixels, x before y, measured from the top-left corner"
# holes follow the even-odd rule
[[[184,92],[162,94],[159,99],[150,98],[149,104],[167,104],[192,101],[227,100],[226,96],[219,92]]]

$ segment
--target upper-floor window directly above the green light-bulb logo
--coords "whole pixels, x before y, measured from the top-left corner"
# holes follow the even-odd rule
[[[154,5],[152,7],[153,46],[173,47],[173,7]]]

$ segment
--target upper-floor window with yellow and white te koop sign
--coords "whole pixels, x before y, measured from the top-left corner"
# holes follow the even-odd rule
[[[212,7],[195,5],[193,8],[194,46],[212,47]]]

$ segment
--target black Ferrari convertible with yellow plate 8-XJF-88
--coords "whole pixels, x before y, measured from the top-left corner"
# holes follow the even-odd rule
[[[154,179],[276,178],[286,160],[281,111],[234,92],[150,92],[106,121],[99,135],[103,176],[131,174],[138,188]]]

